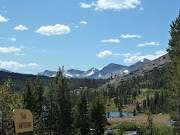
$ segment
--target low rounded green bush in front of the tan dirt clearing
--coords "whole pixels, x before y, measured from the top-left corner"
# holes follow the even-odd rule
[[[135,131],[138,129],[138,125],[136,123],[128,122],[128,123],[118,124],[116,128],[125,131]]]

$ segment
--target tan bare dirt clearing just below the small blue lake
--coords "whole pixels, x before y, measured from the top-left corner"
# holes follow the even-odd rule
[[[166,125],[169,121],[169,114],[157,114],[152,115],[153,117],[153,124],[155,126],[158,125]],[[146,125],[147,124],[148,116],[146,114],[138,114],[135,117],[117,117],[117,118],[108,118],[107,121],[110,124],[118,124],[123,122],[134,122],[138,125]]]

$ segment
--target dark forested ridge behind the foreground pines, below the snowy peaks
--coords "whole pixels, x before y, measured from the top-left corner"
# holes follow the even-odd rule
[[[37,78],[36,75],[0,71],[0,85],[2,85],[4,83],[4,79],[7,79],[9,76],[15,83],[14,89],[16,91],[22,90],[22,88],[24,88],[28,78],[31,78],[32,82],[34,82]],[[48,86],[49,81],[53,78],[42,76],[42,79],[43,85]],[[109,79],[68,78],[67,81],[70,84],[71,90],[74,90],[79,89],[80,87],[97,88],[100,85],[108,82]]]

